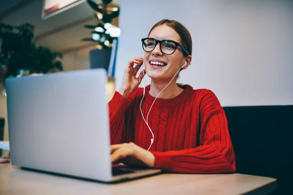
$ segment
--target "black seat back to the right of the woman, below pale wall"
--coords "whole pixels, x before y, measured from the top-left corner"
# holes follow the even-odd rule
[[[292,192],[289,186],[293,182],[293,105],[224,110],[237,173],[276,178],[276,194]]]

